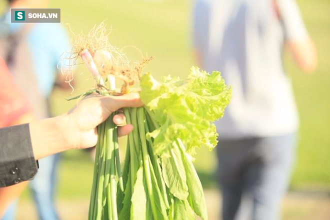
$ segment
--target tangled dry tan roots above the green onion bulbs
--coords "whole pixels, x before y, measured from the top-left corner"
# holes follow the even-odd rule
[[[131,63],[122,52],[122,49],[110,44],[109,33],[110,30],[106,29],[104,22],[101,22],[98,26],[95,25],[86,35],[83,33],[76,35],[72,32],[72,50],[65,52],[61,59],[61,72],[65,74],[67,82],[73,79],[74,65],[79,64],[78,61],[81,63],[80,53],[87,49],[94,57],[97,70],[105,81],[107,81],[108,75],[113,75],[116,79],[122,81],[120,91],[114,91],[114,93],[124,94],[130,92],[132,86],[141,79],[142,70],[152,59],[152,56],[143,56],[141,53],[142,61]],[[97,84],[96,89],[110,91],[106,85]]]

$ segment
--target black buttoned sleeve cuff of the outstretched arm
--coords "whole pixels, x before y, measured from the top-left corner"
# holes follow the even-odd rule
[[[37,168],[29,125],[0,129],[0,187],[32,179]]]

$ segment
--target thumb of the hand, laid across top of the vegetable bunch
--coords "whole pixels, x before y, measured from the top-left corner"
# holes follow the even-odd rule
[[[105,106],[107,106],[111,111],[115,111],[122,107],[143,106],[138,93],[129,93],[119,96],[104,96],[102,101],[104,101]]]

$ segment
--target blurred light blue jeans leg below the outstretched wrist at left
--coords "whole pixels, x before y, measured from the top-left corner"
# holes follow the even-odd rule
[[[56,167],[59,154],[39,160],[39,170],[30,182],[30,188],[36,203],[40,220],[57,220],[58,214],[54,205],[56,187]]]

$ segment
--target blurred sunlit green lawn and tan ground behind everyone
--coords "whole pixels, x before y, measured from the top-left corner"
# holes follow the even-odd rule
[[[317,47],[318,67],[314,74],[302,73],[285,54],[286,71],[292,79],[300,115],[297,163],[283,202],[282,217],[330,219],[330,1],[297,0],[307,29]],[[3,10],[5,2],[1,2]],[[61,8],[61,22],[74,33],[87,33],[105,21],[111,28],[111,44],[134,45],[154,59],[146,70],[153,75],[176,74],[184,77],[194,64],[191,40],[192,0],[50,0],[50,7]],[[72,36],[69,27],[65,25]],[[134,49],[125,51],[140,59]],[[53,114],[70,109],[76,102],[65,98],[90,89],[93,80],[83,65],[75,71],[74,91],[54,89]],[[123,142],[124,140],[122,140]],[[214,177],[214,152],[200,149],[195,167],[205,189],[210,219],[219,219],[220,197]],[[207,161],[207,162],[205,162]],[[90,155],[81,150],[65,152],[59,163],[56,207],[61,219],[85,219],[92,181]],[[26,217],[28,216],[28,217]],[[28,190],[19,199],[17,219],[37,219]]]

